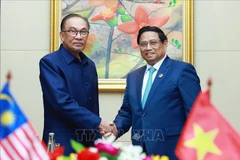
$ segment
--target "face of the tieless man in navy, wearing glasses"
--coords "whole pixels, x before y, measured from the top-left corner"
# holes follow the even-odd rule
[[[78,57],[79,52],[86,46],[88,33],[86,36],[80,35],[79,32],[77,35],[74,35],[73,33],[75,31],[88,31],[87,23],[79,17],[72,17],[66,21],[63,31],[65,32],[60,32],[63,46],[73,55]]]

